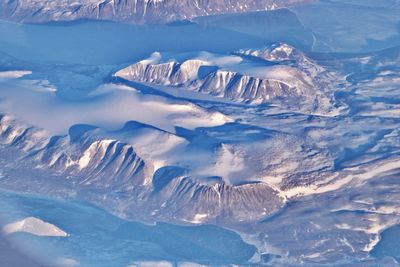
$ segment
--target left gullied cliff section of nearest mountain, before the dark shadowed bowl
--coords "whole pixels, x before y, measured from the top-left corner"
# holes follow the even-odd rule
[[[96,129],[87,131],[79,136],[72,133],[48,136],[45,131],[3,116],[0,119],[0,144],[24,151],[25,158],[39,168],[82,177],[77,178],[81,184],[124,187],[132,183],[133,177],[143,180],[145,164],[131,146],[100,139]]]

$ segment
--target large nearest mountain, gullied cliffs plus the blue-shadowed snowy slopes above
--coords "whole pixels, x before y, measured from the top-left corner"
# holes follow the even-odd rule
[[[110,187],[128,195],[134,191],[148,198],[140,208],[150,209],[160,219],[173,219],[169,214],[174,211],[194,223],[259,220],[286,201],[278,189],[283,180],[329,170],[333,164],[326,151],[315,150],[294,136],[243,129],[239,124],[195,131],[182,128],[175,134],[137,122],[111,132],[75,125],[68,135],[51,136],[7,115],[0,122],[5,155],[16,149],[10,156],[23,157],[39,170],[70,177],[72,184],[99,190]],[[224,141],[218,135],[226,130],[243,137],[253,134],[256,139],[233,141],[237,137],[228,135]],[[290,154],[281,153],[289,149]],[[300,163],[300,158],[305,160]],[[135,197],[129,196],[130,201]],[[164,202],[167,213],[156,208]],[[130,202],[125,205],[119,212],[130,214],[138,208]]]

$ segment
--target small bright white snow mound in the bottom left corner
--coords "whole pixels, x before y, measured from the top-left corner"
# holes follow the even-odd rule
[[[37,236],[53,236],[53,237],[66,237],[68,234],[58,228],[57,226],[44,222],[35,217],[27,217],[20,221],[7,224],[3,227],[3,232],[6,234],[13,234],[17,232],[25,232]]]

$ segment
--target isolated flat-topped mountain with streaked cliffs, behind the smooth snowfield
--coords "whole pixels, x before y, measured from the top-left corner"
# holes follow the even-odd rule
[[[234,54],[203,52],[163,57],[155,52],[149,59],[130,65],[115,76],[182,87],[240,102],[279,103],[299,112],[326,115],[338,112],[332,87],[343,78],[329,73],[297,49],[280,44]]]

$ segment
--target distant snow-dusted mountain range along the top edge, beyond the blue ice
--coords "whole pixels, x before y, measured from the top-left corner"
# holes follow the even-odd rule
[[[165,23],[192,17],[268,10],[310,0],[1,0],[0,17],[23,22],[100,19]]]

